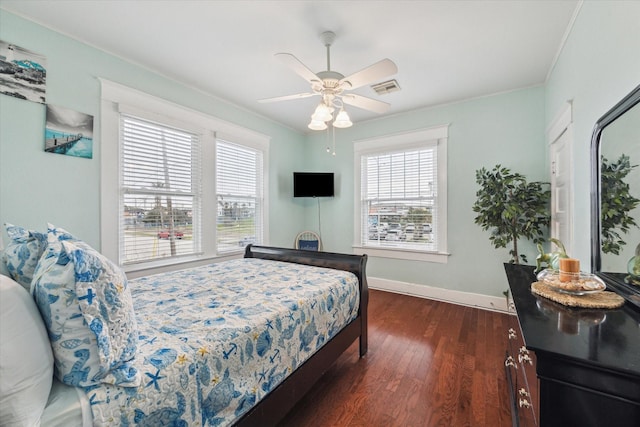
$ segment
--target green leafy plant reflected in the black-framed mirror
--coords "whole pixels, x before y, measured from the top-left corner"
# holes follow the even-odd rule
[[[602,158],[601,167],[601,227],[602,252],[620,255],[620,250],[626,244],[622,234],[629,232],[631,227],[637,227],[635,219],[629,215],[640,200],[629,192],[629,184],[625,178],[638,165],[631,165],[631,160],[622,154],[615,162]]]

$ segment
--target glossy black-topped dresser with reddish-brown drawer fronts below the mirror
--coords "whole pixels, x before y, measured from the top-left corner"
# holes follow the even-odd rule
[[[505,264],[517,314],[505,356],[514,425],[640,426],[640,311],[554,303],[531,293],[533,269]]]

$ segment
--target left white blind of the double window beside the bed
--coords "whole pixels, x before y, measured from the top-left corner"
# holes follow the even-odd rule
[[[120,115],[120,262],[200,251],[200,138]]]

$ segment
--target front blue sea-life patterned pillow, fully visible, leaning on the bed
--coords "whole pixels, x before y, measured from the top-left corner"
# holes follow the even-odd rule
[[[140,385],[138,341],[124,273],[86,243],[49,226],[34,296],[49,332],[56,377],[65,384]]]

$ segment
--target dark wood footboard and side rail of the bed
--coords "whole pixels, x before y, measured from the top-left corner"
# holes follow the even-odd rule
[[[237,426],[275,426],[356,339],[360,339],[360,357],[367,353],[367,306],[369,302],[369,288],[365,272],[367,256],[248,245],[244,257],[350,271],[356,275],[360,283],[358,316],[235,424]]]

